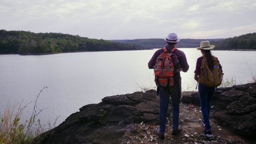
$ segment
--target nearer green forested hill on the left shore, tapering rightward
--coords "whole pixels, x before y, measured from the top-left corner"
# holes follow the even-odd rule
[[[78,51],[144,50],[143,46],[62,33],[0,30],[0,54],[53,54]]]

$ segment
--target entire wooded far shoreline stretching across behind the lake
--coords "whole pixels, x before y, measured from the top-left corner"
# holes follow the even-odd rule
[[[233,38],[181,39],[178,48],[196,48],[209,40],[216,50],[256,49],[256,33]],[[103,40],[62,33],[0,30],[0,54],[53,54],[79,51],[146,50],[165,46],[163,38]]]

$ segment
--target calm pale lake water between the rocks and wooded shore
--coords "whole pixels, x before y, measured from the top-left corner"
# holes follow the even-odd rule
[[[196,91],[194,69],[201,56],[195,48],[180,48],[190,69],[182,72],[182,90]],[[87,104],[99,103],[106,96],[154,88],[154,72],[148,61],[156,50],[79,52],[40,56],[0,55],[0,116],[7,105],[24,100],[25,106],[38,98],[38,118],[42,124],[63,122]],[[248,83],[255,74],[256,51],[212,51],[223,66],[224,79]],[[249,70],[251,69],[251,71]],[[10,100],[10,102],[8,102]],[[33,104],[23,112],[30,116]],[[23,118],[24,119],[24,118]]]

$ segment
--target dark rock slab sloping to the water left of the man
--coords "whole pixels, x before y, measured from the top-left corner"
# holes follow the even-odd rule
[[[44,133],[40,144],[120,144],[128,124],[158,122],[158,103],[154,90],[105,97]]]

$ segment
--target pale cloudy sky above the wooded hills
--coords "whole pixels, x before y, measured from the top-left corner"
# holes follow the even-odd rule
[[[0,30],[123,40],[256,32],[256,0],[1,0]]]

